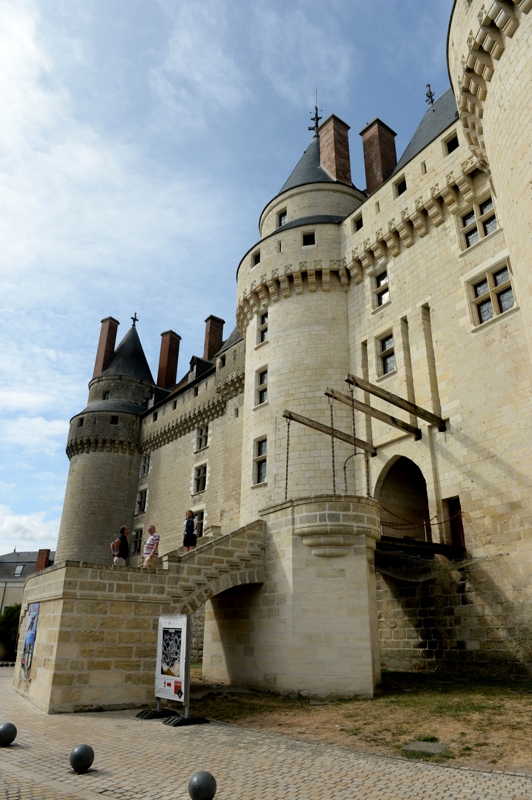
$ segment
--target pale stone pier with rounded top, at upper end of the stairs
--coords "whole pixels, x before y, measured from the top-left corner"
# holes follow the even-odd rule
[[[379,505],[322,496],[265,509],[265,580],[213,597],[210,680],[371,697],[380,678],[373,548]]]

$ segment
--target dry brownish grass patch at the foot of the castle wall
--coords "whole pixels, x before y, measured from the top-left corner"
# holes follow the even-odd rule
[[[387,672],[370,701],[311,706],[306,698],[273,692],[211,694],[193,701],[191,710],[212,720],[368,752],[433,763],[455,759],[469,766],[532,768],[532,681]],[[449,749],[403,752],[414,740],[444,742]]]

